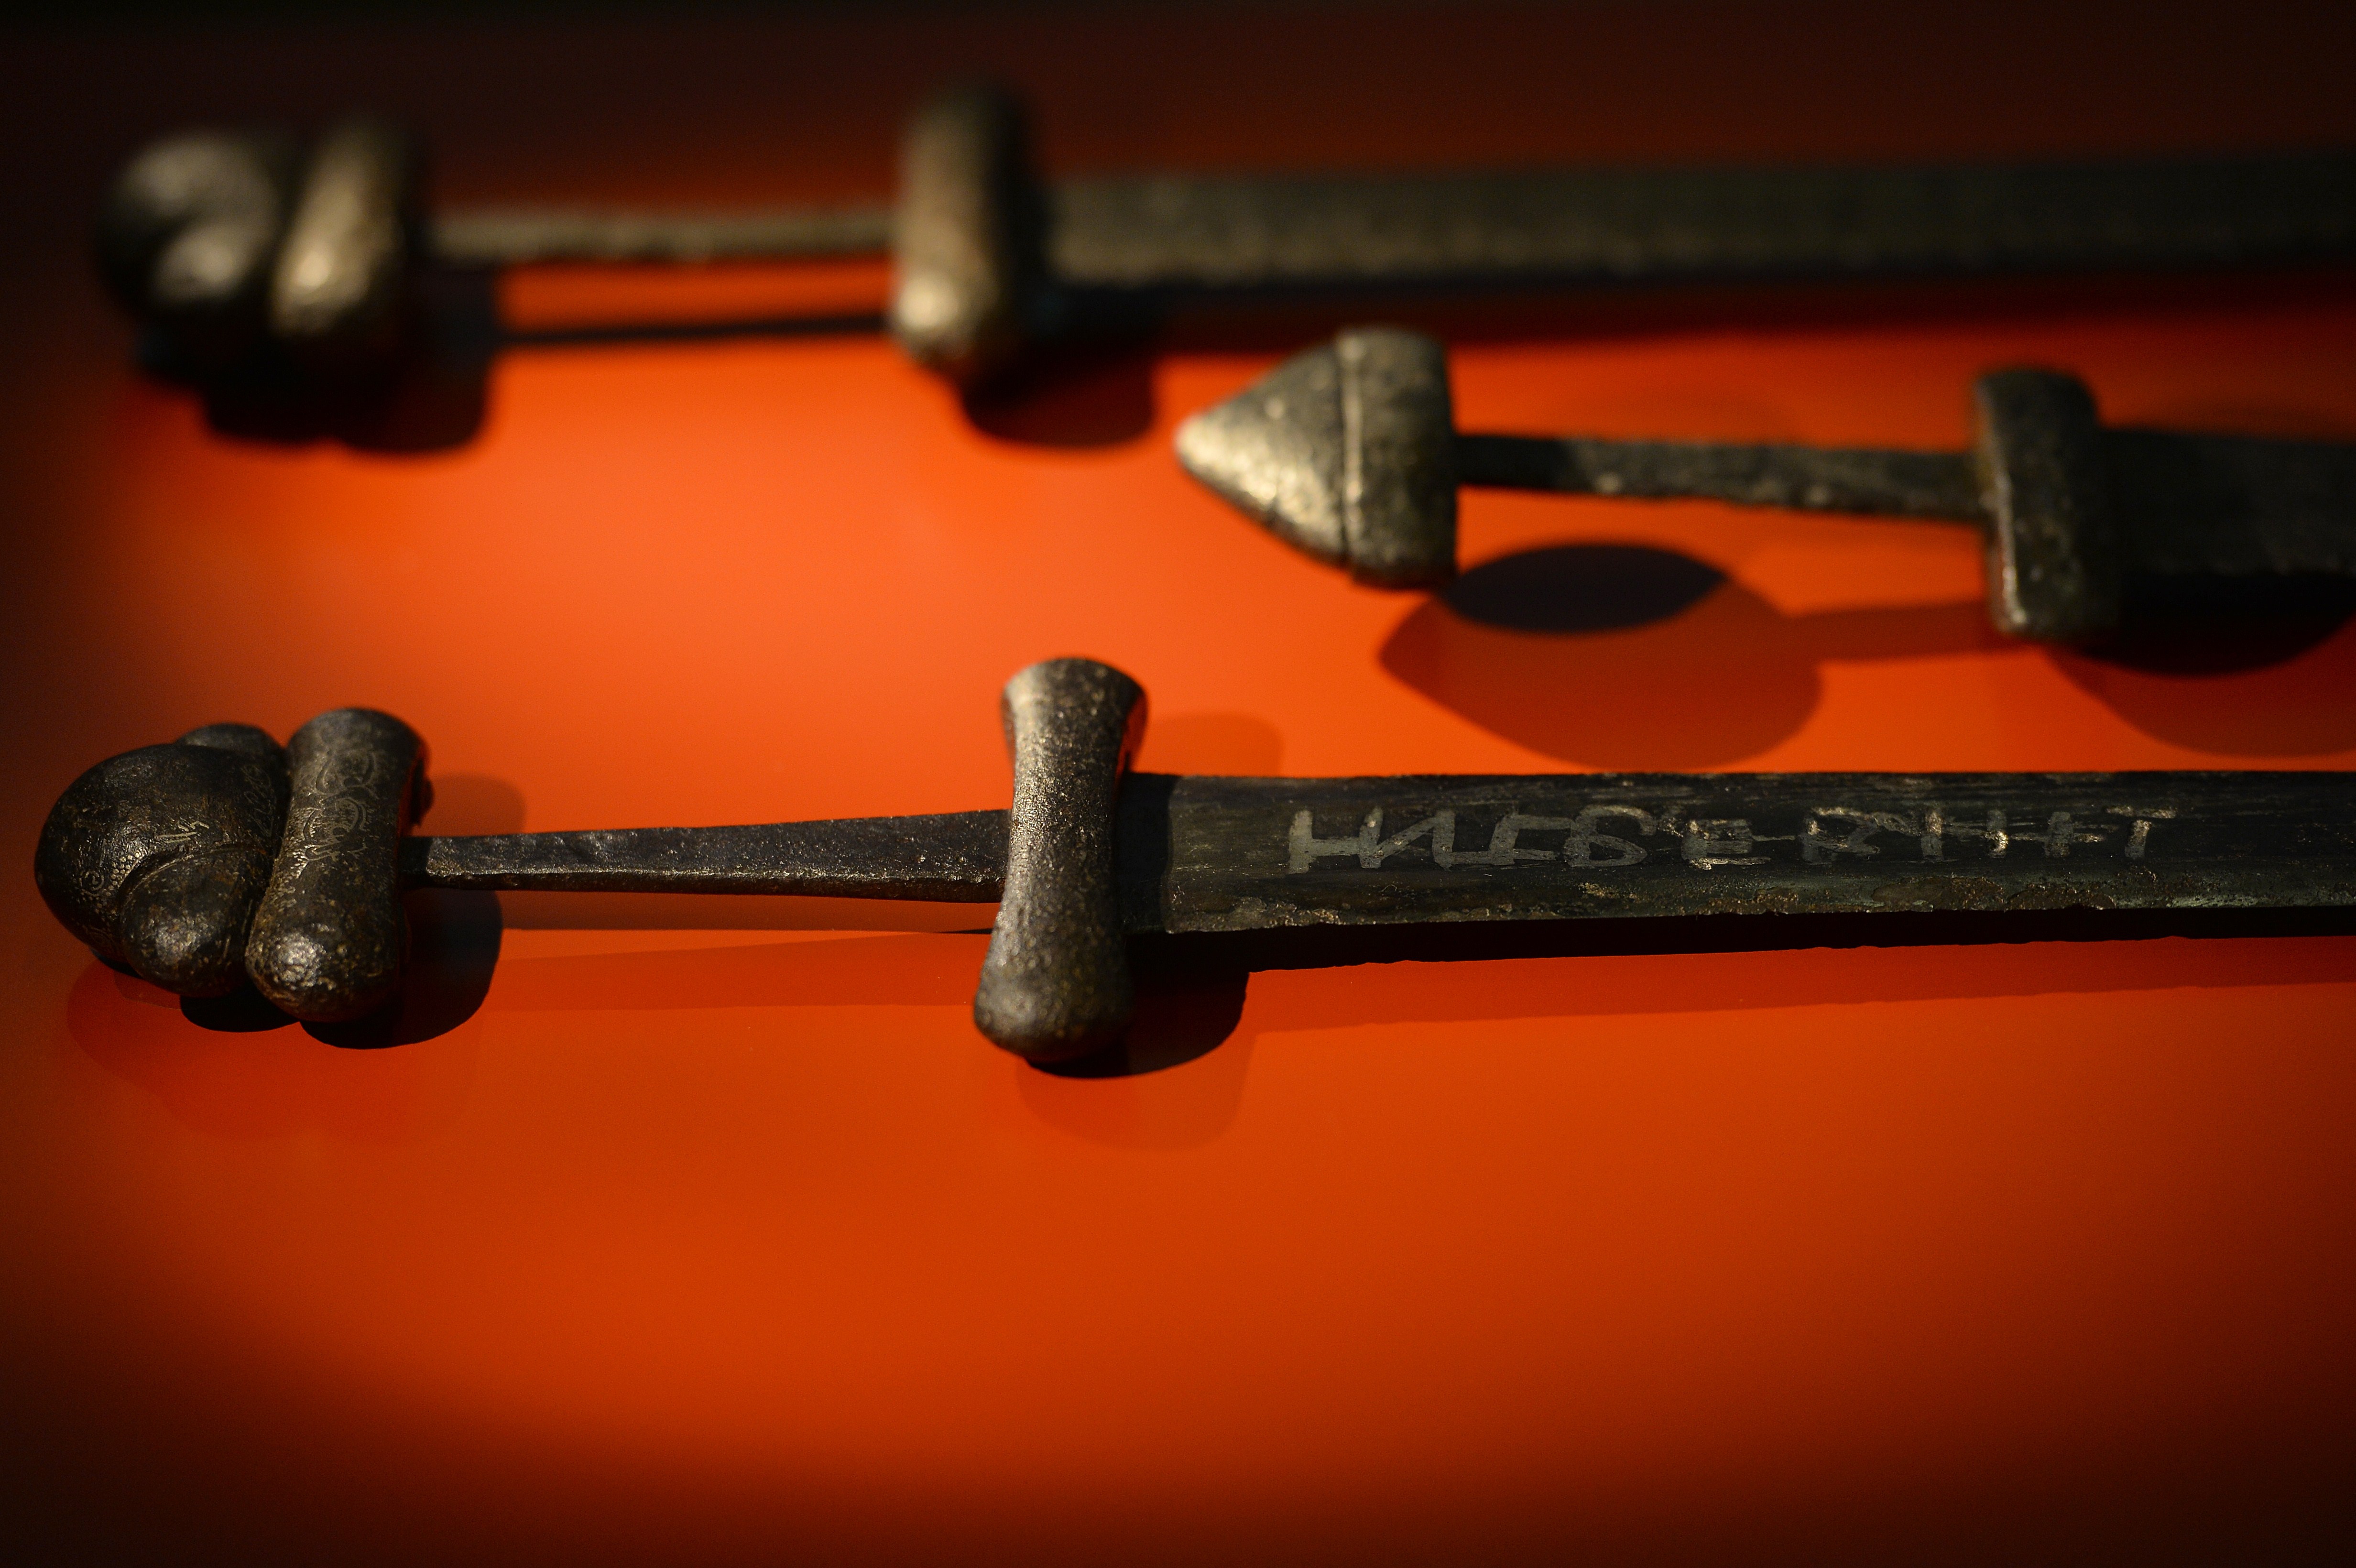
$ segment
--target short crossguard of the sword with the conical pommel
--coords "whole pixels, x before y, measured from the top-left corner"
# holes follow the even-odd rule
[[[1988,511],[1988,614],[2033,643],[2118,631],[2111,454],[2094,393],[2059,370],[1998,370],[1972,386]]]

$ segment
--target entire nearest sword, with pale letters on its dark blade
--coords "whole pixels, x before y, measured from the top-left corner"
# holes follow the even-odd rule
[[[410,836],[424,746],[368,709],[75,779],[35,883],[99,956],[304,1019],[401,979],[405,888],[997,902],[975,1022],[1060,1059],[1121,1034],[1124,937],[1692,916],[2356,906],[2356,775],[1131,775],[1143,690],[1088,659],[1006,685],[1013,803],[766,826]]]

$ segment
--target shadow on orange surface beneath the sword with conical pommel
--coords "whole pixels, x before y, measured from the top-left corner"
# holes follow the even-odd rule
[[[2047,657],[2120,718],[2224,756],[2356,746],[2356,636],[2340,584],[2130,603],[2102,655]],[[1531,751],[1607,770],[1720,768],[1793,735],[1828,659],[2003,650],[1972,603],[1786,614],[1718,570],[1633,544],[1503,556],[1418,603],[1392,676]]]

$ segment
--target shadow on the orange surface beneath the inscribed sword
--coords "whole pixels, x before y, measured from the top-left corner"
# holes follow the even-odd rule
[[[2113,930],[2118,921],[2113,916]],[[1946,942],[1958,935],[1972,942],[1972,932],[1925,918],[1920,935],[1946,942],[1791,951],[1795,939],[1809,937],[1854,942],[1857,923],[1776,925],[1755,932],[1758,951],[1659,951],[1642,946],[1642,932],[1597,937],[1569,925],[1143,939],[1133,944],[1138,1022],[1129,1038],[1084,1062],[1025,1069],[1018,1092],[1044,1123],[1088,1142],[1190,1149],[1235,1123],[1253,1045],[1268,1034],[2356,979],[2356,935],[2347,932],[2347,921],[2243,918],[2215,928],[2264,935],[2050,939],[2069,932],[2069,923],[2045,921],[2026,935],[2047,939],[1981,937],[1974,946],[1953,946]],[[2285,937],[2274,928],[2311,935]],[[2014,921],[2005,930],[2024,928]],[[2149,932],[2127,923],[2123,935]],[[1616,951],[1560,951],[1614,939],[1621,942]],[[1722,937],[1741,939],[1739,932]],[[961,1012],[973,996],[980,949],[980,935],[879,935],[523,958],[499,970],[490,1005],[502,1012],[874,1005]],[[483,951],[471,956],[481,963]],[[396,1024],[438,996],[478,998],[471,986],[483,977],[488,965],[417,965]],[[68,1031],[85,1055],[151,1092],[181,1123],[224,1137],[297,1130],[356,1142],[408,1137],[455,1114],[478,1050],[471,1034],[431,1050],[318,1050],[299,1031],[231,1034],[193,1022],[196,1003],[97,963],[68,1001]],[[339,1043],[327,1029],[309,1034]],[[978,1038],[973,1045],[982,1050]]]

